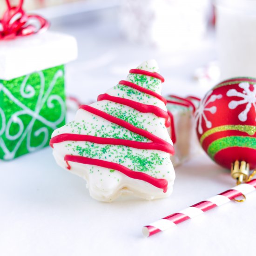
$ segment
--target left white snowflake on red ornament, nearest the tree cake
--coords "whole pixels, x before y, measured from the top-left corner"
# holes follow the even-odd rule
[[[211,128],[212,127],[212,123],[211,121],[209,121],[207,119],[207,117],[205,116],[206,111],[210,112],[211,114],[215,114],[217,111],[217,107],[216,106],[212,106],[210,108],[207,108],[207,106],[209,105],[209,103],[214,102],[216,100],[219,100],[222,98],[222,94],[212,94],[212,90],[210,90],[205,97],[202,99],[202,101],[200,102],[199,107],[197,108],[197,110],[195,111],[195,123],[197,123],[198,121],[198,132],[199,134],[203,133],[202,130],[202,121],[205,121],[206,127],[207,128]],[[210,97],[209,95],[212,94]],[[209,99],[208,99],[209,98]],[[207,100],[208,99],[208,100]]]

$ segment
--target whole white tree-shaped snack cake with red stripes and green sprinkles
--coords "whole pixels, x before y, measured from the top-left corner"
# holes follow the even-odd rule
[[[174,148],[166,128],[163,81],[156,61],[145,61],[54,131],[50,145],[56,162],[84,178],[94,199],[171,194]]]

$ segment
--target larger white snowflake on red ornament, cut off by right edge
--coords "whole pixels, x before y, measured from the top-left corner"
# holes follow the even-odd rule
[[[229,109],[235,109],[237,106],[246,104],[245,109],[238,115],[238,119],[242,122],[247,121],[247,114],[253,106],[256,111],[256,84],[253,85],[253,91],[250,90],[250,84],[248,82],[242,82],[238,86],[243,89],[243,93],[238,92],[236,89],[230,89],[227,92],[227,96],[232,97],[240,97],[243,100],[240,101],[230,101]],[[256,121],[256,119],[255,119]]]

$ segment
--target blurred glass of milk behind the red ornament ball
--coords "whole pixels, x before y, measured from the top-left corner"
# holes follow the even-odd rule
[[[221,79],[256,77],[256,0],[216,0]]]

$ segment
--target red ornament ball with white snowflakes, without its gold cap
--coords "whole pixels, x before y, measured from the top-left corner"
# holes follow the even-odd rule
[[[238,161],[256,168],[256,79],[222,81],[202,99],[195,113],[196,132],[204,151],[231,168]]]

